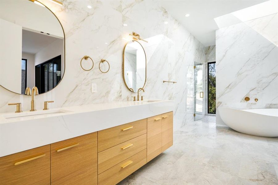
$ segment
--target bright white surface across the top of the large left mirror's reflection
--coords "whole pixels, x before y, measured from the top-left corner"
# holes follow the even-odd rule
[[[64,38],[63,29],[55,15],[31,1],[1,0],[0,18],[25,28]]]

